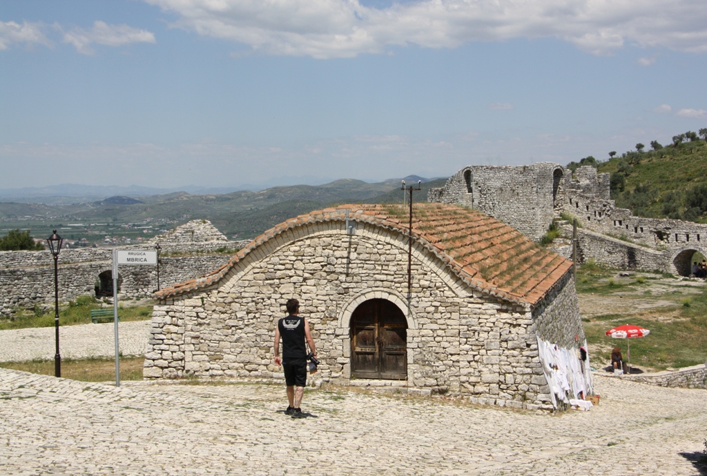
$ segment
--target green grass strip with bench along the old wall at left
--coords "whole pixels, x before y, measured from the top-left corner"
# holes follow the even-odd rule
[[[76,301],[59,307],[59,326],[89,324],[91,309],[100,309],[101,302],[92,296],[81,296]],[[120,321],[145,321],[152,317],[152,306],[124,306],[118,302]],[[105,307],[105,304],[103,304]],[[108,309],[112,309],[108,307]],[[54,307],[35,307],[33,311],[16,311],[10,319],[0,320],[0,331],[54,326]]]

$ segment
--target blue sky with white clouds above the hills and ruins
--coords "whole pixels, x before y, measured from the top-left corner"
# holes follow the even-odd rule
[[[707,127],[704,0],[2,0],[0,189],[447,177]]]

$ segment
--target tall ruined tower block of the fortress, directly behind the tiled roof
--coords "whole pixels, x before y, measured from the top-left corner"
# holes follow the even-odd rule
[[[559,175],[557,180],[554,174]],[[563,168],[551,162],[522,167],[472,165],[450,177],[444,187],[431,189],[427,199],[475,208],[539,240],[552,222],[564,176]]]

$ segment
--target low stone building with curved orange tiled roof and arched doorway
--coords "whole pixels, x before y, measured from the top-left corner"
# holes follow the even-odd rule
[[[416,205],[411,237],[408,226],[401,206],[315,211],[160,290],[144,376],[281,376],[274,331],[295,297],[322,360],[317,379],[550,405],[539,340],[568,355],[585,341],[571,262],[460,206]]]

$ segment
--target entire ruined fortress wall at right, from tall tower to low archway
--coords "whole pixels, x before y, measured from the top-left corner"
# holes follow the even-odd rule
[[[594,258],[614,268],[686,276],[694,252],[707,254],[707,225],[635,217],[609,198],[609,174],[589,166],[574,174],[551,162],[464,167],[444,187],[431,189],[428,201],[477,208],[536,241],[553,218],[570,215],[582,227],[580,262]],[[559,251],[563,256],[570,252]]]

